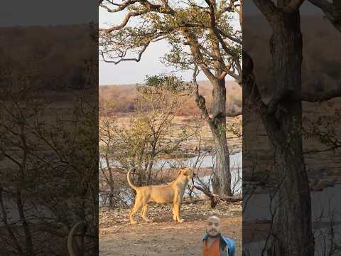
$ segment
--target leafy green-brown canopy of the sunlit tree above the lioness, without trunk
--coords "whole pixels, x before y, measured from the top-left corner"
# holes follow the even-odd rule
[[[242,60],[242,33],[232,26],[236,12],[230,8],[231,3],[219,1],[213,14],[214,24],[211,22],[210,6],[205,1],[156,2],[151,6],[146,1],[132,1],[120,10],[110,3],[103,4],[117,10],[114,12],[126,14],[129,11],[133,16],[128,23],[122,23],[110,33],[100,33],[99,53],[104,60],[114,63],[138,61],[146,47],[163,40],[171,46],[163,56],[163,62],[168,65],[188,70],[193,69],[196,63],[201,68],[217,70],[216,62],[219,59],[221,67],[230,63],[232,72],[238,75],[241,72],[237,72],[236,68]],[[219,53],[215,46],[220,48]]]

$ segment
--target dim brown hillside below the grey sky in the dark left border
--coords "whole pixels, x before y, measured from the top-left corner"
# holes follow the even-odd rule
[[[12,87],[30,80],[36,89],[84,89],[98,72],[94,29],[91,24],[0,28],[0,87],[9,87],[11,73]]]

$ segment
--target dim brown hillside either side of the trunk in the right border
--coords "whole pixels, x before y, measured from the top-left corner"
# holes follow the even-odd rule
[[[263,16],[249,16],[243,27],[248,36],[243,48],[255,61],[255,73],[261,92],[271,87],[272,60],[269,51],[271,28]],[[252,22],[251,22],[252,20]],[[303,33],[302,90],[322,92],[340,86],[341,33],[322,16],[301,16]],[[314,24],[314,26],[311,26]],[[264,51],[259,51],[264,49]],[[318,50],[323,49],[323,50]]]

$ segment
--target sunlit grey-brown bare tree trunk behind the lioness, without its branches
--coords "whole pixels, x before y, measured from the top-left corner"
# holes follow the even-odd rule
[[[210,122],[215,141],[215,172],[212,180],[213,193],[231,196],[231,173],[229,171],[229,148],[226,137],[226,87],[225,80],[213,85],[213,114]]]

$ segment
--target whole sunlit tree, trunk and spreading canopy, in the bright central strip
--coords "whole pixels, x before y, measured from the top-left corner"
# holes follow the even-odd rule
[[[166,63],[181,70],[193,70],[194,81],[200,71],[210,80],[212,113],[198,90],[194,95],[215,141],[214,193],[230,195],[225,77],[229,75],[242,83],[242,36],[232,26],[237,17],[242,24],[242,1],[106,0],[99,1],[99,6],[113,15],[124,16],[118,25],[99,29],[99,54],[104,61],[138,62],[148,47],[164,40],[171,46],[163,58]]]

